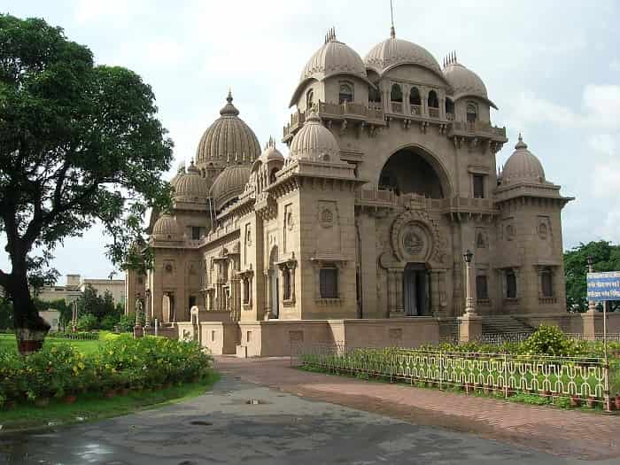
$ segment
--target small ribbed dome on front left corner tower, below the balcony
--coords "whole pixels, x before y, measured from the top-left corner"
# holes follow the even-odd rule
[[[321,124],[315,112],[310,112],[303,128],[291,141],[291,159],[311,159],[314,161],[338,161],[340,148],[336,137]]]

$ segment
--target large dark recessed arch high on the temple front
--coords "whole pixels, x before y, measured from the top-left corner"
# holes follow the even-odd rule
[[[384,164],[377,182],[379,190],[397,195],[416,194],[426,198],[452,196],[445,168],[433,155],[418,146],[395,151]]]

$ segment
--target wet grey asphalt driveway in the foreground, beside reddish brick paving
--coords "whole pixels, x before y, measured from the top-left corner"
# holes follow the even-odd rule
[[[523,446],[303,399],[224,372],[213,391],[181,404],[101,422],[0,434],[0,463],[555,465],[589,462],[569,461]]]

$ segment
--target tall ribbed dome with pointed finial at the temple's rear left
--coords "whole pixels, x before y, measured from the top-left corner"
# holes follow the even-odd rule
[[[239,118],[239,111],[228,102],[220,111],[220,118],[215,120],[200,138],[196,151],[196,165],[199,169],[213,163],[216,167],[225,167],[232,163],[251,164],[260,155],[260,143],[254,131]]]

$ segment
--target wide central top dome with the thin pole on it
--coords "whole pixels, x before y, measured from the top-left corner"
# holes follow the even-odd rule
[[[441,67],[429,50],[417,43],[397,39],[393,35],[384,42],[377,43],[368,52],[364,62],[368,68],[374,69],[378,74],[384,74],[394,66],[417,65],[443,77]]]

